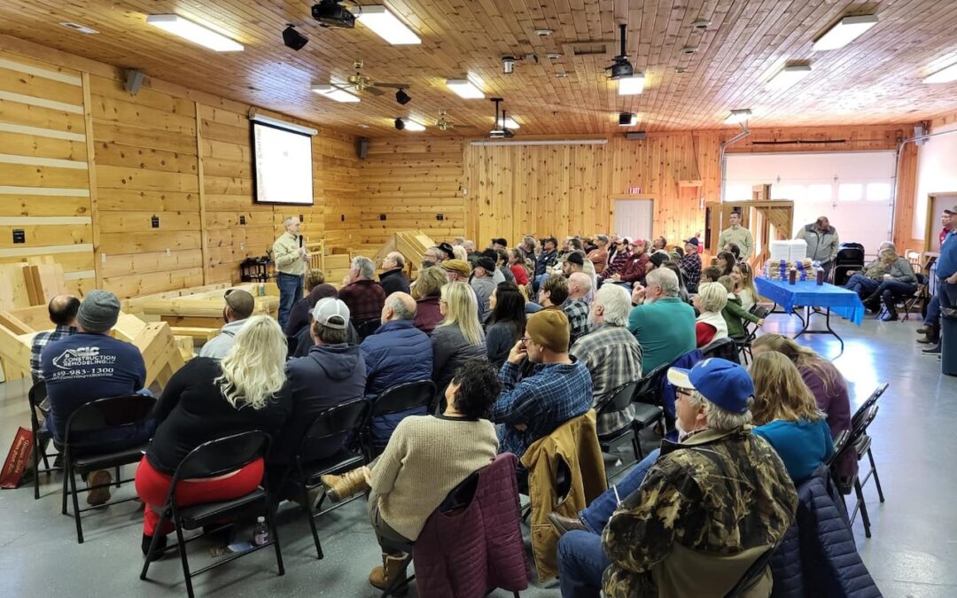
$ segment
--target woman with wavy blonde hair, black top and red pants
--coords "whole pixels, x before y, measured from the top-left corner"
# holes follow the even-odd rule
[[[253,316],[220,360],[197,357],[173,374],[154,411],[159,426],[136,471],[136,492],[145,503],[143,553],[160,534],[157,559],[168,528],[157,529],[173,473],[190,451],[216,438],[262,430],[276,435],[292,411],[285,375],[286,338],[277,321]],[[225,476],[187,480],[177,488],[180,506],[249,494],[262,481],[262,459]]]

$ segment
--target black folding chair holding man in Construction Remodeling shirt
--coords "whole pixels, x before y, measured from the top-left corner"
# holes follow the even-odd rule
[[[156,397],[144,394],[131,394],[129,396],[111,397],[91,401],[79,407],[70,414],[66,421],[66,432],[63,438],[63,446],[60,448],[63,454],[63,506],[61,512],[66,515],[66,498],[68,495],[73,497],[73,517],[77,522],[77,542],[83,543],[83,527],[79,520],[79,514],[93,509],[101,509],[106,505],[120,504],[135,500],[136,497],[123,498],[122,500],[111,500],[95,506],[79,508],[78,493],[89,492],[98,488],[115,485],[119,488],[124,482],[133,481],[133,477],[122,479],[120,476],[120,467],[131,463],[139,463],[148,446],[148,442],[108,453],[93,453],[91,449],[82,448],[80,454],[77,454],[78,448],[74,447],[78,434],[92,434],[103,432],[116,428],[134,428],[145,425],[156,405]],[[71,442],[73,440],[74,442]],[[100,471],[115,469],[116,479],[111,484],[98,484],[88,486],[87,488],[77,489],[77,476]],[[67,486],[69,485],[69,490]]]

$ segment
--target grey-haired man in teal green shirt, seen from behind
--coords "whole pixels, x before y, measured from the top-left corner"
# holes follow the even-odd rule
[[[695,349],[695,310],[678,298],[674,272],[658,269],[645,282],[641,304],[628,315],[628,331],[641,345],[642,368],[651,372]]]

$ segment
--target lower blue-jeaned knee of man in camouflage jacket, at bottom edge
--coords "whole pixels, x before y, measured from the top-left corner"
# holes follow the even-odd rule
[[[598,598],[608,565],[612,562],[601,547],[601,536],[577,529],[564,534],[558,541],[562,598]]]

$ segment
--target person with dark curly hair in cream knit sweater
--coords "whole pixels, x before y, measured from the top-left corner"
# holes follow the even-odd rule
[[[382,566],[368,575],[373,587],[386,589],[405,574],[402,547],[418,539],[458,484],[495,460],[499,441],[485,417],[500,388],[492,365],[468,360],[445,389],[441,415],[407,417],[367,467],[323,476],[333,500],[369,491],[369,520],[382,548]]]

